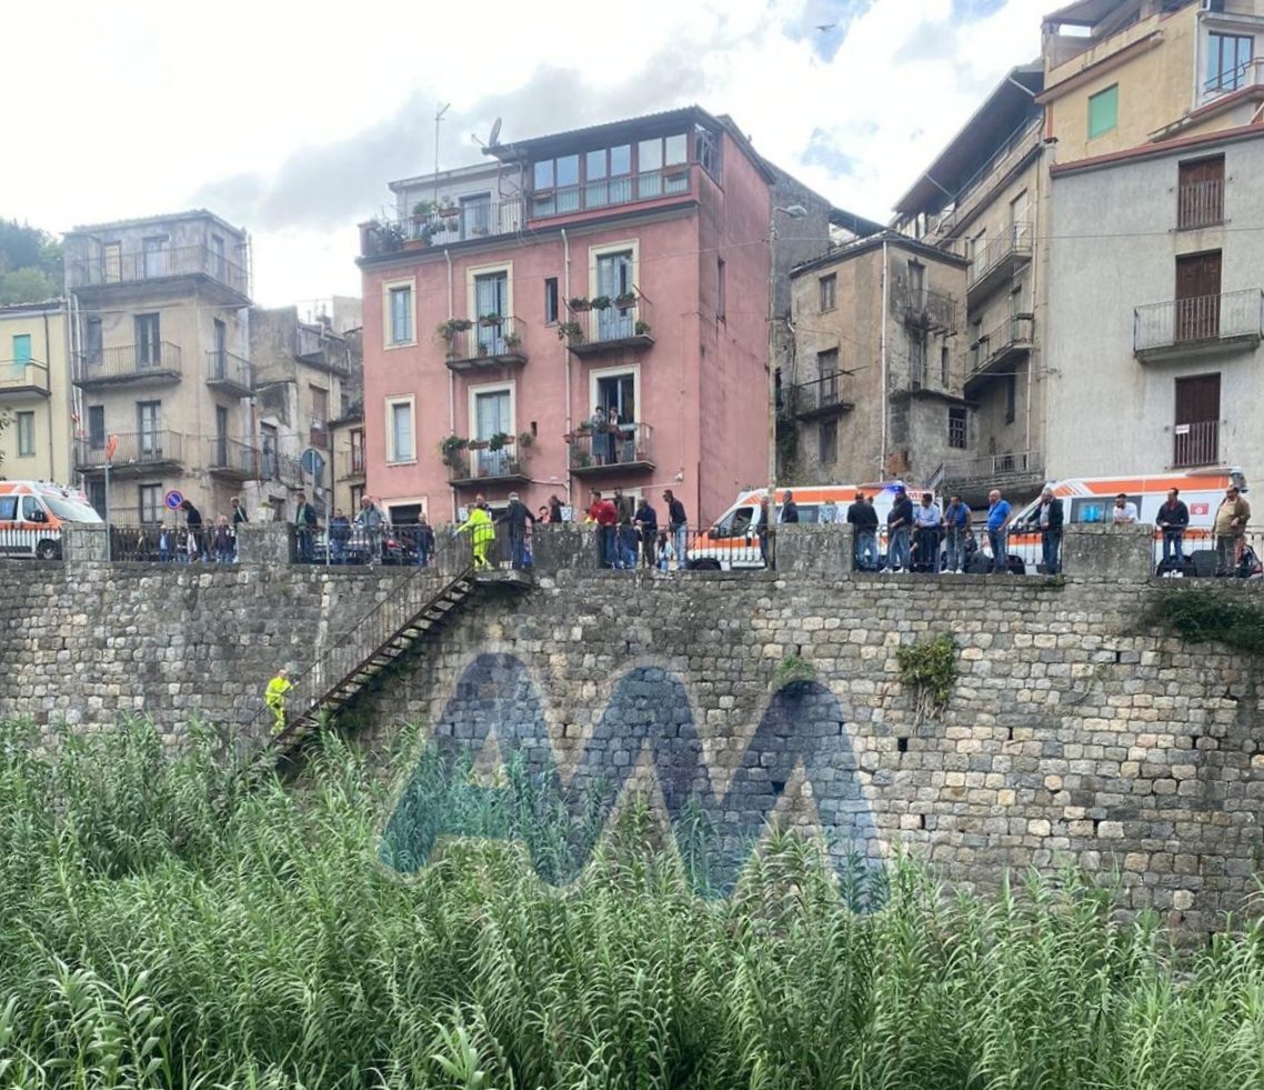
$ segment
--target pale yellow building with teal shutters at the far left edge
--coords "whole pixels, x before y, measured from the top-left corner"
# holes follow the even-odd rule
[[[0,475],[71,483],[66,300],[0,307]]]

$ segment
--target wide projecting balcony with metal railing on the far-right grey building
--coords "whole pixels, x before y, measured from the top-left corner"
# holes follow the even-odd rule
[[[1254,348],[1264,334],[1264,291],[1169,300],[1133,311],[1133,354],[1141,363]]]

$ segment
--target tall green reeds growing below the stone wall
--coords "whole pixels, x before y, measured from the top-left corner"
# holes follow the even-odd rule
[[[705,900],[641,804],[561,893],[498,842],[399,881],[351,750],[245,795],[221,749],[0,727],[0,1086],[1264,1085],[1258,923],[1177,965],[1073,874],[976,898],[909,864],[861,914],[786,835]]]

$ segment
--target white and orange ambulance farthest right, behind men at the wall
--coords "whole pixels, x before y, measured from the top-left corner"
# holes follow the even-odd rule
[[[1206,473],[1164,473],[1153,477],[1077,477],[1058,481],[1049,487],[1053,494],[1062,499],[1066,525],[1105,524],[1112,520],[1115,497],[1124,493],[1136,506],[1136,521],[1153,526],[1159,517],[1159,508],[1167,503],[1168,489],[1178,488],[1181,499],[1189,508],[1189,526],[1184,532],[1186,574],[1189,570],[1191,554],[1215,549],[1212,525],[1216,508],[1225,498],[1230,484],[1246,493],[1246,478],[1241,469],[1217,469]],[[976,516],[986,515],[975,512]],[[1036,497],[1026,507],[1015,513],[1010,524],[1007,544],[1009,566],[1011,572],[1035,574],[1040,564],[1040,499]],[[991,558],[991,550],[983,537],[983,554]],[[1154,531],[1154,563],[1163,560],[1163,532]]]

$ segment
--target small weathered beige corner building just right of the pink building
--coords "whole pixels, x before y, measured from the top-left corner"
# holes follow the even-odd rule
[[[786,483],[920,486],[971,453],[964,290],[964,259],[894,233],[791,271],[794,370],[777,398]]]

